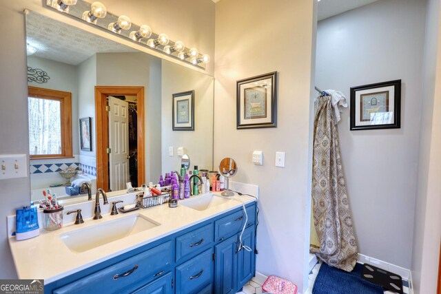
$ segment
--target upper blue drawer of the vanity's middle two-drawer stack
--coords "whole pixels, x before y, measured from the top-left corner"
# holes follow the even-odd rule
[[[213,243],[213,239],[213,224],[180,235],[176,238],[176,262],[203,251],[207,245]]]

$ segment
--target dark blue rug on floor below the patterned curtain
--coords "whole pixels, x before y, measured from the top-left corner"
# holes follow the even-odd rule
[[[383,294],[381,286],[362,279],[362,268],[362,264],[356,264],[353,271],[348,273],[323,262],[312,294]]]

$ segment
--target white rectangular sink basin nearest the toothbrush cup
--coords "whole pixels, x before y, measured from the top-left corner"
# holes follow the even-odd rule
[[[90,221],[93,222],[93,220]],[[135,214],[61,233],[60,238],[71,251],[84,252],[159,225],[153,220]]]

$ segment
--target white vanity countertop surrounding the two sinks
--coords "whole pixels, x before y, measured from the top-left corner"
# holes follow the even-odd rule
[[[236,196],[229,198],[229,201],[215,207],[209,207],[205,211],[185,207],[181,205],[181,201],[178,207],[173,209],[169,208],[167,204],[163,204],[147,209],[139,209],[132,213],[119,213],[116,216],[110,216],[110,214],[107,213],[103,214],[101,220],[88,218],[85,219],[83,224],[75,225],[73,222],[70,222],[64,224],[63,228],[57,231],[45,231],[41,229],[38,237],[29,240],[17,241],[14,237],[10,237],[8,240],[12,258],[14,259],[14,264],[17,269],[17,275],[19,279],[43,279],[45,284],[49,284],[62,277],[66,277],[127,251],[131,251],[132,249],[136,249],[139,246],[171,235],[176,231],[181,231],[194,224],[225,213],[226,211],[241,207],[243,203],[247,204],[255,201],[255,199],[249,196],[238,196],[236,194]],[[59,238],[61,233],[90,227],[94,224],[107,222],[109,220],[124,218],[131,214],[140,214],[161,225],[82,253],[70,251],[61,238]]]

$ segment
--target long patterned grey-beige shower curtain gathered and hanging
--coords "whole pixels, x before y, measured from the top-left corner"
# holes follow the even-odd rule
[[[320,96],[314,118],[312,199],[314,227],[320,248],[311,246],[311,253],[316,253],[329,266],[352,271],[357,262],[358,249],[331,96]]]

